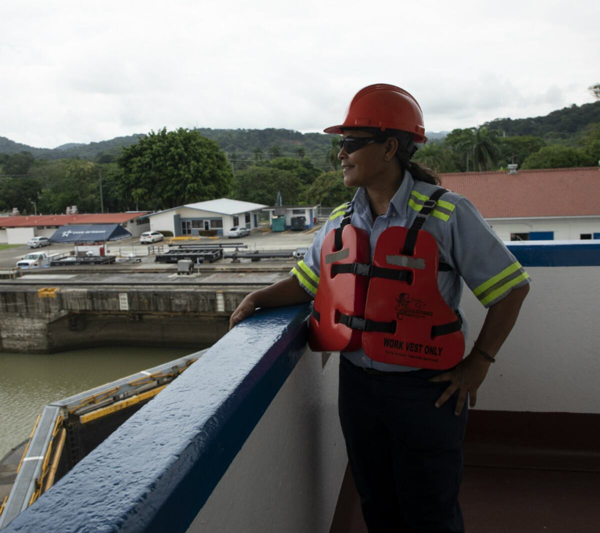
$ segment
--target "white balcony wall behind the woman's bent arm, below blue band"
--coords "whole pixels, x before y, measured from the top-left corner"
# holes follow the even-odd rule
[[[527,267],[529,295],[479,389],[477,408],[600,412],[600,267]],[[485,309],[468,288],[467,350]]]

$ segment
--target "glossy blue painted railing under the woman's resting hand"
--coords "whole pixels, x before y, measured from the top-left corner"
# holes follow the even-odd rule
[[[186,531],[304,353],[308,309],[236,326],[3,532]]]

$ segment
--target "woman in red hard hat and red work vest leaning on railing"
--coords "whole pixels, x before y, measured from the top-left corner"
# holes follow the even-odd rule
[[[410,161],[427,139],[409,93],[368,86],[325,133],[343,135],[344,184],[359,189],[290,278],[245,297],[230,327],[315,299],[311,347],[341,352],[340,421],[369,531],[464,531],[466,399],[475,405],[529,276],[466,198]],[[463,280],[488,308],[464,359]]]

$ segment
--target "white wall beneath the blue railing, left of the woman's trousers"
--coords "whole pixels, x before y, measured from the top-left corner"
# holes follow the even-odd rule
[[[329,532],[347,462],[338,362],[304,353],[189,532]]]

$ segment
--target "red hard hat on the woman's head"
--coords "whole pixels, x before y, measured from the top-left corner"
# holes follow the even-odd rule
[[[415,135],[415,143],[426,143],[421,106],[404,89],[387,83],[369,85],[352,98],[344,124],[326,128],[325,133],[341,133],[344,128],[402,130]]]

